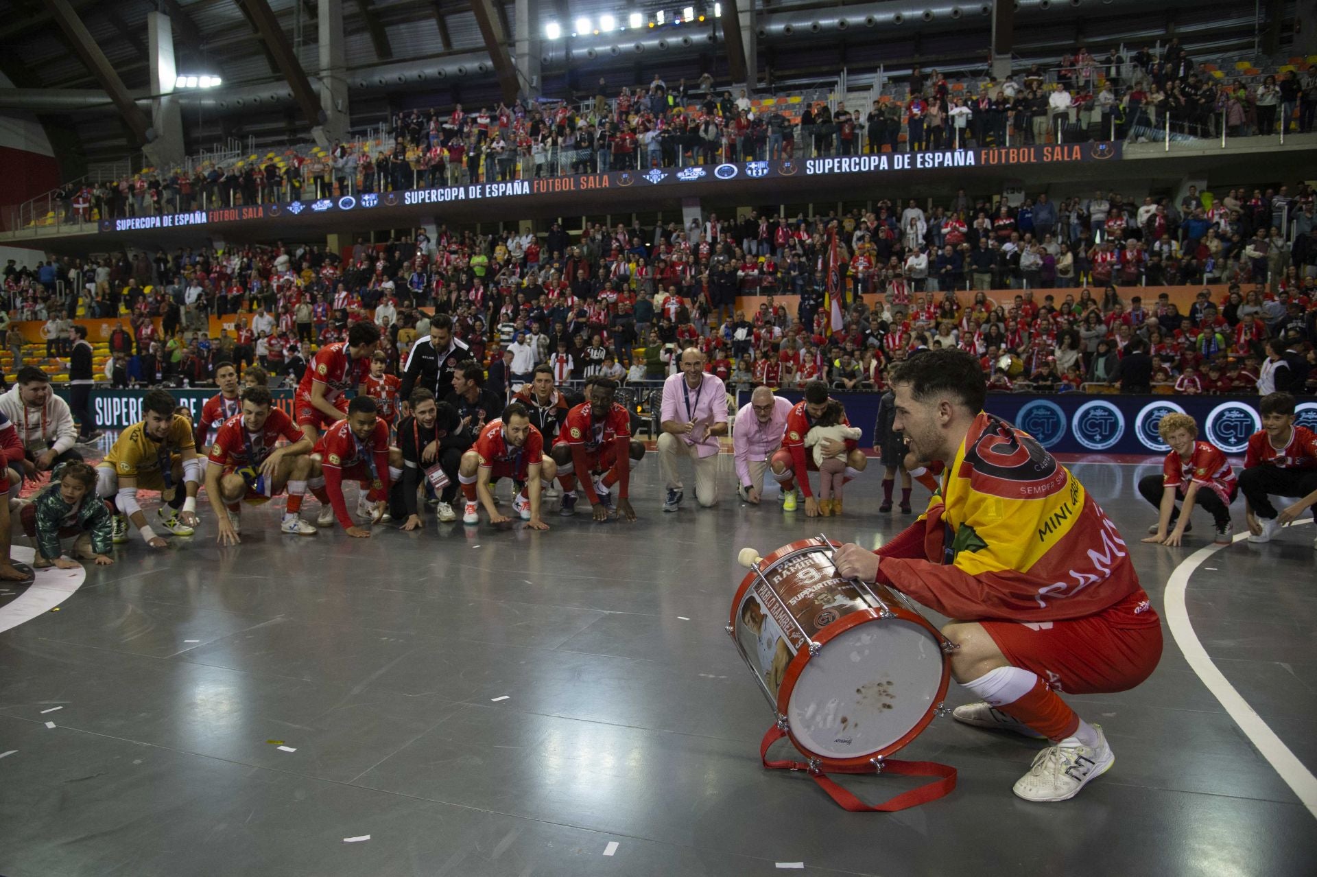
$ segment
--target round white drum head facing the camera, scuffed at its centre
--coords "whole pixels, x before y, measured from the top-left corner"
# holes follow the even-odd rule
[[[797,741],[815,756],[856,758],[907,735],[942,685],[942,648],[901,619],[856,624],[809,660],[786,706]]]

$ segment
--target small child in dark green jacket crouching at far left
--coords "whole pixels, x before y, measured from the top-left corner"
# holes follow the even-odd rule
[[[68,462],[55,470],[51,483],[36,499],[24,502],[18,518],[22,532],[36,548],[34,569],[80,568],[78,561],[62,556],[61,539],[74,540],[72,556],[79,560],[94,561],[97,566],[115,562],[109,557],[113,515],[96,498],[95,487],[95,469],[84,462]]]

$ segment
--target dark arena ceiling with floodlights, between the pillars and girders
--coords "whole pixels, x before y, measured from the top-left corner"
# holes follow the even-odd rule
[[[770,66],[781,80],[836,75],[843,66],[852,74],[872,74],[880,63],[901,68],[915,61],[952,66],[982,63],[990,32],[989,5],[973,0],[913,3],[846,3],[834,0],[748,0],[755,3],[760,22],[759,65]],[[747,3],[747,0],[741,0]],[[128,90],[149,92],[146,61],[146,16],[153,9],[169,14],[174,22],[175,51],[179,70],[208,72],[224,79],[225,88],[283,84],[271,53],[257,37],[253,22],[234,0],[70,0],[92,38],[105,53]],[[269,0],[279,25],[288,37],[303,70],[315,75],[319,68],[316,0]],[[657,11],[666,11],[670,21],[686,0],[540,0],[537,32],[551,20],[570,32],[570,22],[587,16],[594,21],[612,14],[626,22],[632,12],[652,20]],[[1262,4],[1268,7],[1274,4]],[[1285,9],[1293,4],[1281,4]],[[712,3],[694,4],[709,14],[706,24],[693,24],[680,36],[695,38],[684,45],[680,38],[668,41],[662,51],[635,50],[635,33],[591,34],[587,40],[564,38],[545,41],[543,88],[545,95],[593,90],[599,76],[610,88],[648,82],[653,72],[676,80],[690,82],[709,71],[720,80],[728,79],[726,53],[715,33]],[[1234,0],[1021,0],[1017,7],[1015,54],[1023,58],[1047,58],[1060,54],[1076,42],[1097,46],[1112,42],[1135,45],[1164,40],[1176,33],[1181,41],[1212,51],[1250,49],[1256,38],[1254,4]],[[1245,8],[1247,7],[1247,8]],[[495,12],[512,33],[514,4],[494,4]],[[940,18],[955,11],[956,20]],[[893,25],[892,13],[903,12],[903,24]],[[922,20],[925,12],[936,11],[939,20]],[[1266,11],[1263,11],[1266,12]],[[487,50],[470,0],[342,0],[345,51],[349,80],[366,76],[387,65],[408,62],[441,63],[448,59],[485,57]],[[867,16],[874,22],[864,26]],[[852,26],[832,29],[839,17]],[[1264,17],[1264,16],[1263,16]],[[822,21],[822,33],[811,22]],[[20,88],[96,90],[96,76],[79,58],[70,38],[55,22],[47,0],[0,0],[0,72]],[[795,24],[788,30],[784,25]],[[940,22],[940,24],[939,24]],[[766,25],[766,26],[765,26]],[[653,32],[641,34],[652,38]],[[587,55],[583,46],[598,53]],[[620,49],[618,46],[620,45]],[[652,45],[652,43],[651,43]],[[449,105],[454,100],[478,103],[497,100],[498,83],[493,72],[466,75],[443,83],[412,83],[406,87],[374,90],[352,95],[353,126],[377,124],[390,111],[406,107]],[[57,129],[57,151],[75,150],[83,162],[120,159],[137,151],[138,144],[113,108],[55,111],[42,113],[47,130]],[[51,124],[54,122],[54,124]],[[266,112],[184,112],[188,151],[209,147],[227,137],[253,136],[259,144],[277,144],[306,137],[306,120],[295,107],[270,108]],[[68,163],[66,161],[66,163]]]

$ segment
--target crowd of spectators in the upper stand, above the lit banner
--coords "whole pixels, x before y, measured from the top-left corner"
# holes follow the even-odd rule
[[[1033,65],[1022,75],[968,86],[915,67],[893,84],[897,95],[867,111],[839,100],[806,101],[801,112],[782,101],[756,107],[744,88],[735,96],[719,91],[709,75],[687,88],[685,80],[669,87],[656,74],[647,87],[620,91],[601,79],[583,101],[412,109],[391,120],[391,141],[336,141],[329,150],[252,155],[191,173],[154,170],[68,186],[55,200],[65,221],[144,216],[686,163],[1143,140],[1160,136],[1168,116],[1177,134],[1220,136],[1222,125],[1235,137],[1266,134],[1281,124],[1308,133],[1317,119],[1314,67],[1250,83],[1216,78],[1177,40],[1160,53],[1113,49],[1094,57],[1081,46],[1059,67]]]

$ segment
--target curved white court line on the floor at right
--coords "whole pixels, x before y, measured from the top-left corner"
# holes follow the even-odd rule
[[[1284,533],[1285,529],[1279,532]],[[1241,539],[1249,539],[1249,533],[1239,533],[1234,537],[1234,541],[1238,543]],[[1258,711],[1249,706],[1249,702],[1241,697],[1229,679],[1226,679],[1225,674],[1217,669],[1217,665],[1208,657],[1208,651],[1202,648],[1202,643],[1198,641],[1197,635],[1193,632],[1193,624],[1189,622],[1189,612],[1185,608],[1184,600],[1189,575],[1198,569],[1202,561],[1222,548],[1226,548],[1226,545],[1206,545],[1200,548],[1180,561],[1180,565],[1171,573],[1171,578],[1166,582],[1167,625],[1171,628],[1175,644],[1184,653],[1184,660],[1198,674],[1202,683],[1208,686],[1208,690],[1221,702],[1221,706],[1226,708],[1226,712],[1235,720],[1235,724],[1249,736],[1249,740],[1258,748],[1262,757],[1275,768],[1280,778],[1285,781],[1285,785],[1293,790],[1299,801],[1308,807],[1308,812],[1317,816],[1317,777],[1313,777],[1312,772],[1295,757],[1289,747],[1276,736],[1276,732],[1262,720]]]

